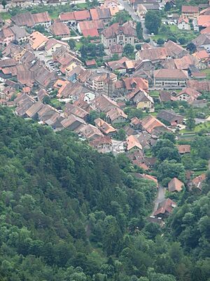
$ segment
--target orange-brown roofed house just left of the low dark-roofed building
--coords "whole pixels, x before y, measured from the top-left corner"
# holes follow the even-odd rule
[[[157,118],[152,115],[148,115],[141,120],[141,128],[147,131],[148,133],[153,133],[155,130],[167,131],[167,126],[160,122]]]

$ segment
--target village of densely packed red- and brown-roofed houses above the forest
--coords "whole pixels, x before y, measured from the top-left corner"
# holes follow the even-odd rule
[[[174,13],[175,0],[93,2],[64,3],[72,11],[57,18],[21,11],[30,1],[7,4],[7,14],[16,12],[0,18],[0,103],[54,131],[68,129],[99,152],[125,153],[138,177],[162,189],[151,152],[158,140],[174,135],[182,159],[197,134],[210,133],[210,6]],[[154,11],[162,13],[157,34],[145,27]],[[184,182],[174,176],[164,188],[202,190],[207,169],[207,162],[186,169]],[[151,219],[176,206],[164,196]]]

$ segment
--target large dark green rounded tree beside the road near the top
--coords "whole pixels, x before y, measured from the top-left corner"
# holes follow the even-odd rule
[[[150,33],[158,34],[161,25],[161,16],[157,11],[148,11],[145,17],[145,27]]]

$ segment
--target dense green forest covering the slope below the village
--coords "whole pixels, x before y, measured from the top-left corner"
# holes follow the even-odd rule
[[[124,155],[6,107],[0,143],[1,281],[210,280],[209,173],[160,228],[147,220],[155,183]]]

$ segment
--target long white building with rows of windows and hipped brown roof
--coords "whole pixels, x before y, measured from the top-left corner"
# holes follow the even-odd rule
[[[154,86],[156,88],[180,89],[186,86],[188,72],[185,70],[155,70]]]

